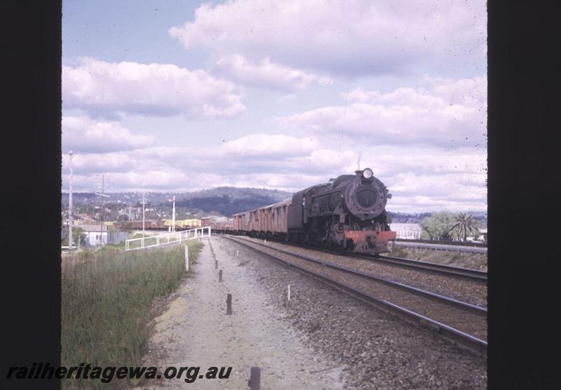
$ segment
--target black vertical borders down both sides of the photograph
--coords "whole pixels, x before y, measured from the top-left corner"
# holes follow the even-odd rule
[[[561,220],[561,152],[548,137],[558,127],[560,8],[529,1],[487,5],[492,389],[550,389],[560,382],[560,327],[553,319],[560,229],[548,229]],[[58,389],[55,380],[6,382],[6,372],[12,365],[60,364],[62,4],[5,0],[0,11],[6,19],[0,24],[0,236],[7,253],[1,261],[0,387]]]

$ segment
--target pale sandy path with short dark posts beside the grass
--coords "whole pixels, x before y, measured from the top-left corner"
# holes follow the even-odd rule
[[[262,389],[343,389],[349,382],[342,363],[317,354],[304,344],[303,330],[276,307],[269,288],[248,272],[245,257],[238,257],[219,238],[208,241],[194,266],[155,319],[145,365],[231,366],[229,379],[183,379],[150,382],[143,389],[248,389],[250,367],[262,369]],[[220,240],[221,241],[221,240]],[[220,248],[222,247],[222,248]],[[215,258],[223,270],[218,281]],[[233,314],[226,315],[226,297],[233,297]]]

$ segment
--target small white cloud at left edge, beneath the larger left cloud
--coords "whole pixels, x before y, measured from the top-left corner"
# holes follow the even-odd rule
[[[116,152],[154,144],[153,135],[135,135],[116,121],[62,117],[62,149],[77,153]]]

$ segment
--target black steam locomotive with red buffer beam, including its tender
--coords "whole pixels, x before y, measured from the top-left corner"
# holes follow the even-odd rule
[[[388,189],[372,170],[357,170],[297,192],[288,206],[288,238],[351,252],[385,253],[391,231]]]

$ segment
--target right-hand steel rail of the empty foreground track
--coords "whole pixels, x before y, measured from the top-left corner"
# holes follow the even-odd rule
[[[283,249],[280,249],[280,248],[275,248],[273,246],[265,245],[264,243],[257,243],[255,241],[250,241],[250,240],[247,240],[245,238],[237,238],[237,239],[241,240],[241,241],[248,242],[248,243],[254,243],[256,245],[263,246],[263,247],[268,248],[268,249],[277,250],[280,253],[285,253],[286,255],[299,257],[301,259],[308,260],[308,261],[314,262],[316,264],[321,264],[324,267],[330,267],[332,269],[337,269],[339,271],[346,272],[347,274],[360,276],[360,277],[368,279],[370,281],[376,281],[376,282],[379,282],[379,283],[384,283],[386,285],[390,285],[393,288],[398,288],[400,290],[410,292],[414,295],[418,295],[419,297],[428,298],[430,300],[433,300],[433,301],[436,301],[436,302],[439,302],[439,303],[443,303],[443,304],[448,304],[452,307],[456,307],[456,308],[462,309],[464,311],[469,311],[470,313],[477,314],[478,316],[487,317],[487,309],[485,309],[485,307],[480,307],[480,306],[477,306],[475,304],[469,304],[467,302],[462,302],[460,300],[454,300],[454,298],[445,297],[444,295],[436,294],[435,292],[430,292],[430,291],[427,291],[427,290],[422,290],[421,288],[412,287],[411,285],[406,285],[404,283],[391,281],[391,280],[386,279],[386,278],[381,278],[379,276],[374,276],[372,274],[367,274],[363,271],[358,271],[357,269],[344,267],[344,266],[339,265],[339,264],[334,264],[333,262],[326,262],[324,260],[320,260],[320,259],[317,259],[315,257],[301,255],[299,253],[292,253],[289,250],[283,250]]]

